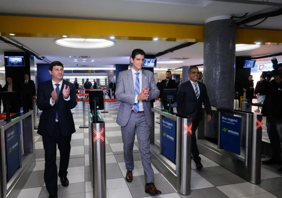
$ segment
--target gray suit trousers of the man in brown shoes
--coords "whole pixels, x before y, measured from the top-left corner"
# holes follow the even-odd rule
[[[127,170],[134,169],[133,146],[135,132],[139,143],[142,166],[146,183],[154,183],[154,171],[151,166],[150,153],[150,127],[148,126],[144,113],[131,113],[126,126],[121,127],[123,140],[124,161]]]

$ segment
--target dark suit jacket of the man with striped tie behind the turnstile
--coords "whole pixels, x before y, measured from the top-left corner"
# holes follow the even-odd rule
[[[198,100],[190,81],[180,85],[177,92],[177,113],[191,117],[192,121],[200,121],[202,119],[202,102],[204,103],[206,113],[212,115],[206,86],[200,82],[198,84],[200,89]]]

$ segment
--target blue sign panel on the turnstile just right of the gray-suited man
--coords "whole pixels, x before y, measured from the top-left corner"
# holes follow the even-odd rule
[[[161,153],[175,163],[176,121],[161,116]]]

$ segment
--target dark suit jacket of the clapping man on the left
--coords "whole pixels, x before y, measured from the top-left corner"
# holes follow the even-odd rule
[[[64,85],[70,87],[70,100],[63,99]],[[76,89],[73,83],[63,80],[63,84],[60,90],[59,97],[56,103],[51,106],[50,98],[51,93],[54,90],[52,80],[42,82],[38,85],[37,89],[37,106],[42,110],[40,116],[38,134],[42,136],[50,137],[55,127],[56,111],[58,112],[58,120],[60,126],[60,132],[63,136],[69,136],[75,132],[75,125],[71,109],[77,104],[76,102]]]

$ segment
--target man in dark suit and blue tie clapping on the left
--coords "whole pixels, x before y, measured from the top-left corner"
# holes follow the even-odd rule
[[[75,125],[71,109],[77,104],[73,83],[63,80],[64,67],[59,61],[51,62],[49,73],[52,80],[40,83],[37,90],[37,106],[42,110],[38,134],[42,135],[45,150],[44,181],[49,198],[57,198],[57,178],[62,186],[69,185],[67,168],[70,157],[71,135]],[[57,174],[56,145],[60,151],[60,167]]]

